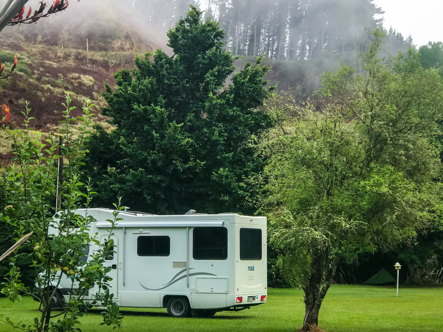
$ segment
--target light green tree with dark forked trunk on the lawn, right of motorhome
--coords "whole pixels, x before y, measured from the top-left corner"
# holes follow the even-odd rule
[[[326,74],[322,112],[303,109],[269,150],[271,244],[305,293],[303,331],[318,325],[340,261],[412,246],[441,213],[430,139],[443,108],[440,77],[413,49],[383,62],[383,34],[371,38],[364,72]]]

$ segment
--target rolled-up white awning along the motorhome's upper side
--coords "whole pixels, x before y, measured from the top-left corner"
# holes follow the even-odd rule
[[[120,221],[115,224],[115,227],[122,228],[162,228],[162,227],[223,227],[224,220],[217,221]],[[99,221],[95,225],[97,228],[110,228],[109,221]]]

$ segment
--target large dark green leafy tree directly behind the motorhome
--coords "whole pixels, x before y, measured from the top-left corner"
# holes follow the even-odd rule
[[[271,126],[257,108],[266,98],[259,61],[225,81],[233,58],[224,32],[191,6],[167,33],[174,55],[161,50],[136,56],[136,68],[115,74],[106,86],[103,114],[115,128],[87,142],[86,174],[99,200],[116,196],[131,208],[155,213],[244,210],[244,179],[263,170],[249,142]]]

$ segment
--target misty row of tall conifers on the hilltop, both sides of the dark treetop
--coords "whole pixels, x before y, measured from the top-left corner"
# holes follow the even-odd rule
[[[195,0],[128,0],[150,27],[167,31]],[[198,6],[197,6],[198,7]],[[233,55],[294,61],[320,54],[366,50],[365,27],[382,28],[382,8],[373,0],[209,0],[205,17],[220,23],[226,50]],[[392,28],[387,49],[396,53],[412,45]]]

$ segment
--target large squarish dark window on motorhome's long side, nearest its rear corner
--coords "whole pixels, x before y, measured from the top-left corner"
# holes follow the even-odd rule
[[[192,233],[194,259],[227,259],[228,229],[225,227],[196,227]]]

